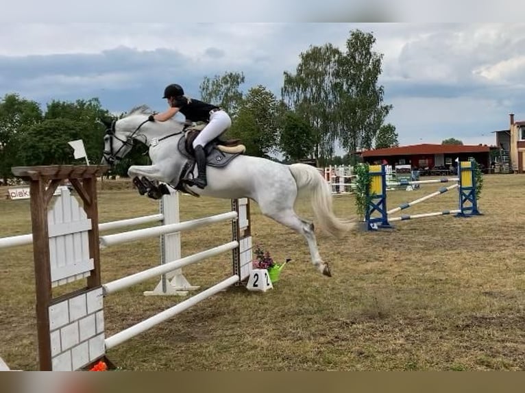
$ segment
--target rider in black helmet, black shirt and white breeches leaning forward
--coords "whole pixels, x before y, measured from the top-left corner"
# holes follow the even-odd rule
[[[193,141],[195,161],[197,162],[198,175],[193,181],[188,181],[190,186],[206,187],[206,153],[204,147],[208,142],[223,134],[232,125],[232,119],[221,107],[211,105],[184,95],[184,89],[179,84],[170,84],[164,89],[164,99],[167,99],[169,109],[166,112],[151,115],[151,121],[167,121],[180,112],[188,121],[204,121],[208,123]]]

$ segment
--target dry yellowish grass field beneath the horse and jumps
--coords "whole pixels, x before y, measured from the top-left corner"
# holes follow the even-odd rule
[[[265,294],[231,288],[114,348],[125,370],[524,370],[525,177],[486,175],[483,216],[443,216],[395,223],[387,232],[319,236],[333,277],[309,262],[302,237],[260,215],[252,235],[278,260],[292,260]],[[104,181],[101,222],[158,212],[129,186]],[[129,183],[126,183],[129,185]],[[437,190],[389,192],[389,207]],[[5,194],[5,190],[0,190]],[[181,219],[226,212],[230,201],[181,196]],[[455,209],[447,192],[408,212]],[[334,198],[339,216],[355,214],[354,197]],[[311,217],[308,203],[298,210]],[[29,233],[29,201],[0,200],[0,236]],[[230,240],[230,224],[182,234],[183,256]],[[184,269],[208,288],[231,274],[230,253]],[[101,251],[103,281],[156,266],[158,239]],[[143,296],[151,280],[105,300],[111,335],[181,301]],[[0,356],[36,370],[32,247],[0,250]]]

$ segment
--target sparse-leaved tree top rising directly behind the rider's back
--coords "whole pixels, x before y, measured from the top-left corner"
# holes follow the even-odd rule
[[[244,83],[243,73],[224,73],[222,76],[215,75],[213,79],[204,77],[199,86],[202,101],[223,107],[232,118],[239,110],[243,93],[239,90]]]

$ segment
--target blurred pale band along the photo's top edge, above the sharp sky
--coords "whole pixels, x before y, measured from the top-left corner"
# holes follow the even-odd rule
[[[149,0],[130,3],[123,0],[67,0],[10,2],[4,6],[0,21],[10,23],[169,23],[179,25],[191,18],[195,22],[360,22],[403,21],[413,23],[521,22],[524,5],[511,0],[480,3],[478,0],[304,0],[244,1],[211,0],[173,2]]]

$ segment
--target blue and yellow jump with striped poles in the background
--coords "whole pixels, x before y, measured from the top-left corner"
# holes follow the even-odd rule
[[[369,204],[365,220],[367,222],[367,229],[369,231],[376,231],[383,228],[393,228],[391,223],[395,221],[413,220],[416,218],[427,218],[435,216],[447,216],[450,214],[456,217],[468,217],[480,215],[478,212],[478,203],[476,199],[476,177],[474,176],[474,169],[476,162],[465,161],[459,162],[459,176],[456,178],[443,179],[429,179],[429,180],[402,180],[398,182],[387,181],[387,171],[384,165],[369,166],[369,174],[371,176],[369,188]],[[456,182],[448,187],[442,187],[432,194],[416,199],[412,202],[402,203],[398,207],[391,210],[387,209],[387,190],[389,186],[413,186],[416,184],[430,184],[430,183],[448,183]],[[404,214],[399,217],[391,217],[391,214],[401,212],[408,209],[417,203],[422,203],[430,198],[437,197],[450,190],[458,189],[458,208],[452,210],[443,210],[441,212],[422,213],[422,214]],[[376,216],[372,216],[376,214]]]

